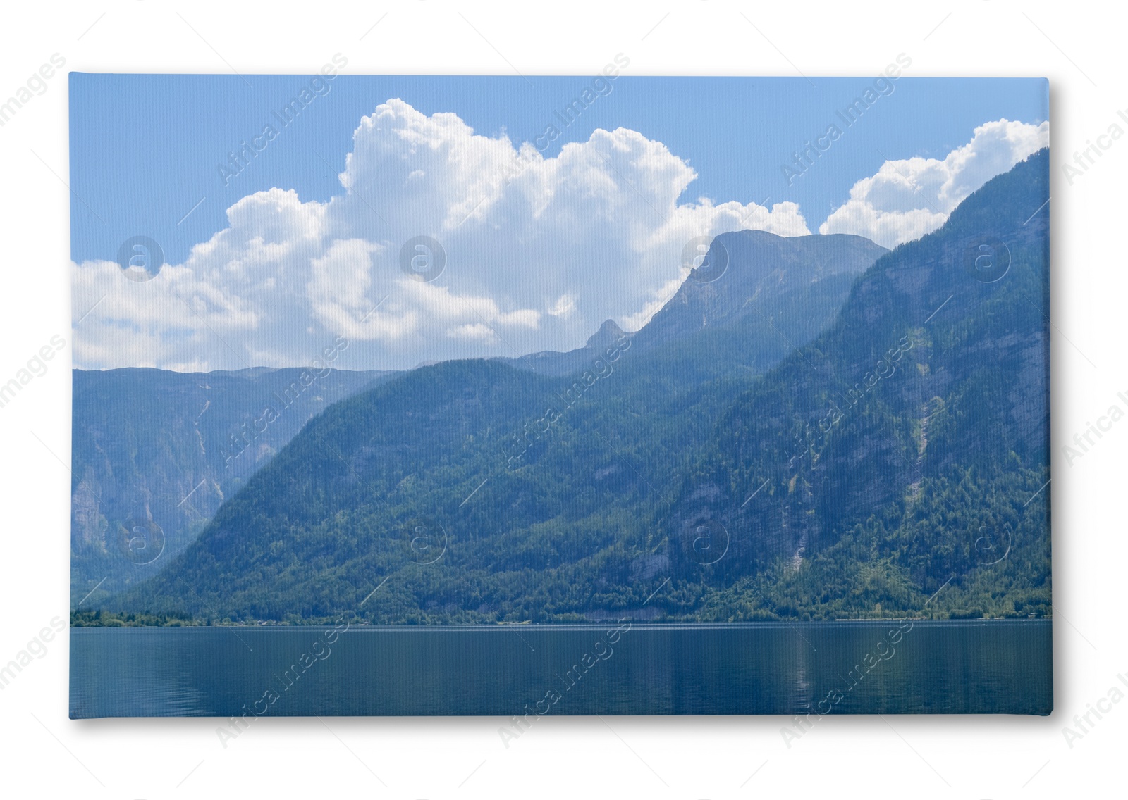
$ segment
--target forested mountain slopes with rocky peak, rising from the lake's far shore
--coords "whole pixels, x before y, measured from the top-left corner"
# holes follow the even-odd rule
[[[214,513],[191,543],[98,605],[290,623],[1048,614],[1048,225],[1031,217],[1048,188],[1041,151],[892,251],[719,235],[644,328],[605,323],[571,353],[363,388],[342,373],[336,402],[293,415],[284,446],[280,427],[199,507]],[[161,425],[191,451],[197,424]]]

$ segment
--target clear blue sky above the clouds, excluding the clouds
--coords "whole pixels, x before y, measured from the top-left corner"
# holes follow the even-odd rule
[[[272,187],[296,189],[303,201],[340,194],[336,176],[353,130],[389,98],[402,98],[428,115],[455,112],[478,134],[505,132],[523,142],[541,135],[555,122],[554,112],[591,78],[530,75],[530,86],[519,77],[341,74],[327,95],[224,186],[217,165],[240,141],[258,134],[272,110],[308,85],[309,77],[246,80],[249,87],[237,75],[71,73],[71,186],[97,214],[74,204],[76,261],[113,259],[123,240],[142,233],[161,243],[168,261],[178,263],[192,245],[226,225],[224,211],[245,195]],[[628,127],[663,142],[697,171],[688,198],[794,201],[808,220],[821,221],[846,201],[854,181],[876,172],[887,158],[943,158],[984,122],[1037,124],[1048,116],[1041,80],[906,74],[788,186],[781,166],[804,141],[837,122],[835,110],[849,105],[872,79],[812,81],[622,74],[611,82],[611,92],[562,130],[544,153],[555,155],[565,142],[585,141],[596,128]]]

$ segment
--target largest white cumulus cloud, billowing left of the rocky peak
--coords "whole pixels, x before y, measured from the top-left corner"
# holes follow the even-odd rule
[[[544,158],[388,100],[355,130],[328,202],[283,188],[244,197],[226,229],[151,281],[113,261],[74,265],[74,363],[293,366],[336,337],[345,368],[579,347],[605,319],[643,325],[685,277],[695,237],[810,232],[794,203],[679,202],[696,177],[626,128]],[[441,245],[432,281],[402,267],[415,237]]]

